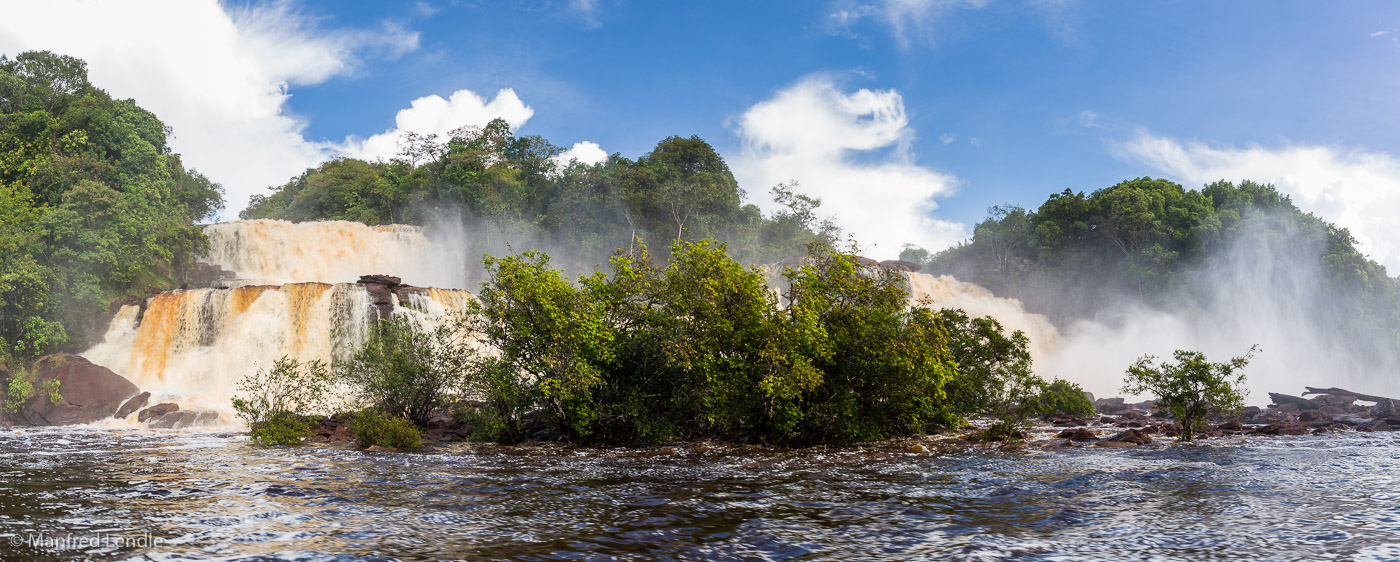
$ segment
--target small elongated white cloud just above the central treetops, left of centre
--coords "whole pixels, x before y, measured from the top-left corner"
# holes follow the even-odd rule
[[[426,95],[413,100],[405,109],[395,115],[395,128],[368,139],[356,136],[340,143],[329,143],[326,147],[335,153],[363,160],[389,160],[399,153],[399,139],[406,133],[437,135],[440,140],[447,140],[448,133],[462,126],[486,126],[491,119],[501,118],[510,123],[511,130],[519,129],[535,115],[535,109],[525,105],[515,90],[504,88],[496,92],[496,98],[476,95],[470,90],[458,90],[452,97],[444,100],[441,95]],[[596,144],[595,144],[596,146]]]

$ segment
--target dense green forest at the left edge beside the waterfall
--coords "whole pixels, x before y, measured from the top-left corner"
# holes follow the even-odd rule
[[[0,56],[0,367],[91,342],[111,303],[178,285],[220,186],[83,60]]]

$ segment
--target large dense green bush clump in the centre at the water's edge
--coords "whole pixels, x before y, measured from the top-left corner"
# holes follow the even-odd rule
[[[497,439],[525,439],[540,408],[581,443],[715,436],[848,443],[956,420],[944,325],[911,308],[897,273],[813,247],[785,272],[781,306],[764,272],[722,244],[678,241],[655,266],[643,245],[610,275],[566,280],[547,256],[487,258],[476,311],[475,392]]]

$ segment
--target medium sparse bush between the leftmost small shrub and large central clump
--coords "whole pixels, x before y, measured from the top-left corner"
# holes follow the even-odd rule
[[[377,322],[336,377],[372,408],[427,423],[461,392],[473,355],[462,318],[423,329],[409,317],[396,317]]]

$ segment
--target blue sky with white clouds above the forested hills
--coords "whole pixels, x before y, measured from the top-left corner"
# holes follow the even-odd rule
[[[512,112],[519,133],[563,147],[591,142],[637,157],[665,136],[699,135],[753,202],[769,206],[771,184],[798,179],[885,255],[906,241],[952,244],[991,205],[1035,206],[1064,188],[1154,175],[1187,186],[1275,182],[1400,268],[1390,242],[1400,240],[1396,3],[307,0],[123,10],[136,15],[74,6],[25,10],[90,17],[98,35],[113,18],[144,25],[143,10],[157,20],[188,11],[179,21],[193,31],[161,31],[154,43],[134,29],[83,42],[62,28],[0,24],[0,52],[87,57],[98,85],[175,126],[186,161],[238,199],[231,212],[335,153],[372,156],[356,143],[402,129],[396,115],[410,102],[466,90]],[[127,55],[112,46],[125,43]],[[221,69],[249,78],[211,92]],[[230,101],[238,88],[266,100]],[[507,88],[514,97],[501,97]],[[248,115],[235,119],[239,111]],[[473,111],[461,115],[496,109]],[[197,137],[220,128],[228,132],[218,150],[238,156],[246,136],[244,167],[266,165],[245,171],[206,154],[216,139]],[[280,142],[291,144],[270,149]]]

